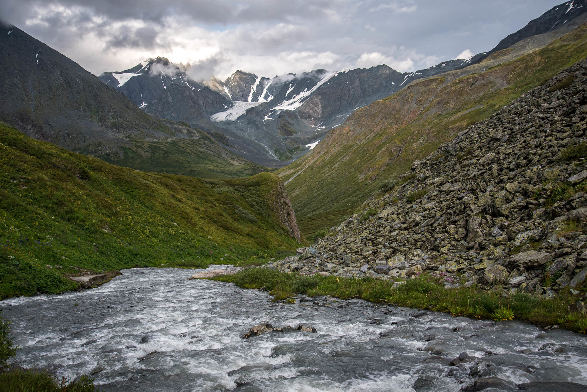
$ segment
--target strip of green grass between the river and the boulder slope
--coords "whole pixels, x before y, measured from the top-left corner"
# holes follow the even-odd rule
[[[430,309],[455,316],[499,320],[511,320],[515,317],[539,326],[558,324],[576,332],[583,332],[585,329],[582,327],[587,326],[585,315],[569,311],[569,303],[578,300],[579,296],[568,290],[559,292],[555,298],[538,298],[521,291],[502,296],[500,290],[478,290],[474,286],[444,289],[441,274],[422,274],[415,279],[409,279],[396,289],[392,289],[392,280],[299,275],[268,268],[250,268],[235,275],[212,279],[232,282],[248,289],[264,287],[270,290],[274,300],[282,300],[296,293],[308,296],[329,295],[341,299],[362,298],[394,306]]]

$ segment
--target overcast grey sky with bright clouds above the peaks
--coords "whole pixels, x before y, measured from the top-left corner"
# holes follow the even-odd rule
[[[490,50],[561,2],[0,0],[0,17],[95,75],[162,56],[224,80],[237,69],[421,69]]]

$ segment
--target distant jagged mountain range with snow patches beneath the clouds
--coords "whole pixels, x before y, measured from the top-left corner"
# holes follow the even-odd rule
[[[237,70],[224,82],[215,77],[195,82],[190,77],[190,65],[156,58],[121,72],[103,73],[99,79],[147,113],[186,121],[242,157],[268,167],[282,167],[307,153],[354,111],[415,80],[483,62],[537,35],[568,32],[565,27],[573,19],[584,19],[586,4],[585,0],[575,0],[555,6],[488,52],[415,72],[400,73],[378,65],[338,72],[316,69],[269,78]]]

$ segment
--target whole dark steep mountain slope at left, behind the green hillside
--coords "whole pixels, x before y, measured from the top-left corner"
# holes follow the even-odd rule
[[[18,28],[0,32],[0,119],[28,136],[137,169],[205,177],[263,170],[186,123],[150,116]]]

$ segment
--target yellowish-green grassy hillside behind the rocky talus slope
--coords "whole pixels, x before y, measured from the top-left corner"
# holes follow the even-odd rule
[[[582,25],[518,59],[489,68],[480,63],[469,67],[478,73],[464,77],[422,80],[357,110],[311,153],[276,172],[300,230],[308,236],[336,224],[414,160],[586,56]]]

